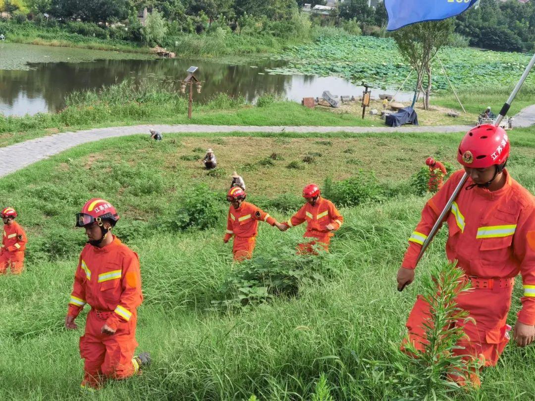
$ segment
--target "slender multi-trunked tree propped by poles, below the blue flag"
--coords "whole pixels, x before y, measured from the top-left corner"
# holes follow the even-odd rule
[[[414,68],[417,74],[416,95],[423,85],[424,76],[427,75],[427,88],[425,89],[424,109],[429,108],[429,97],[432,86],[431,60],[441,47],[449,42],[453,33],[452,19],[442,21],[421,22],[396,30],[393,37],[398,45],[402,57]]]

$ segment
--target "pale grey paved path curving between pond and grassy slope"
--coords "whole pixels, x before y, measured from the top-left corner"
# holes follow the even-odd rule
[[[526,107],[517,114],[515,126],[530,126],[535,124],[535,105]],[[333,133],[345,132],[353,134],[365,133],[454,133],[467,131],[471,126],[406,126],[398,128],[389,127],[261,127],[261,126],[238,126],[238,125],[136,125],[129,127],[94,128],[77,132],[64,132],[60,134],[44,136],[26,142],[0,148],[0,177],[10,174],[22,167],[26,167],[36,161],[56,155],[66,149],[82,143],[94,142],[104,138],[115,136],[147,134],[149,128],[154,128],[162,133],[230,133],[230,132],[295,132],[295,133]]]

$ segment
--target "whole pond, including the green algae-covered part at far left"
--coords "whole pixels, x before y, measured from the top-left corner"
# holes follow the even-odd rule
[[[253,60],[253,61],[251,61]],[[131,79],[147,80],[180,89],[180,80],[189,66],[199,68],[202,81],[195,101],[204,102],[219,92],[244,96],[247,101],[271,92],[300,102],[303,97],[320,97],[324,90],[333,95],[362,95],[363,88],[338,76],[274,74],[285,60],[250,59],[157,59],[153,56],[87,49],[54,48],[15,43],[0,44],[0,113],[24,115],[55,112],[65,105],[65,96],[74,90],[96,89]],[[372,95],[394,94],[395,90],[372,89]],[[400,101],[412,98],[401,92]]]

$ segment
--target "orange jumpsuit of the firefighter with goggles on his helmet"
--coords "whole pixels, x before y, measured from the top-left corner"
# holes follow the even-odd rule
[[[82,387],[100,388],[105,379],[125,379],[137,373],[137,306],[141,305],[141,275],[137,254],[114,237],[104,248],[87,244],[80,255],[68,315],[77,317],[87,303],[86,332],[80,337],[85,358]],[[108,325],[117,331],[102,334]]]

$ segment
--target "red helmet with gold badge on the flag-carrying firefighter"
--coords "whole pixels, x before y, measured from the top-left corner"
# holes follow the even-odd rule
[[[492,124],[479,125],[464,135],[457,160],[465,167],[487,168],[507,161],[511,144],[505,129]]]

